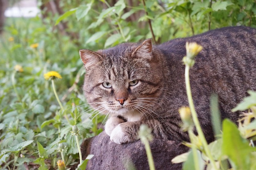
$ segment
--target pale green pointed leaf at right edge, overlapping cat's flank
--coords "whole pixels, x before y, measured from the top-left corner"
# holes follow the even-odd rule
[[[250,95],[248,97],[244,98],[244,101],[238,104],[232,111],[243,111],[250,109],[252,106],[256,105],[256,91],[247,91],[247,93]]]

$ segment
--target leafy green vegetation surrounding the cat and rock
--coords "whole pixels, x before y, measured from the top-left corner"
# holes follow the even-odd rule
[[[8,18],[0,39],[3,169],[76,168],[80,163],[77,142],[102,131],[105,117],[91,110],[82,94],[85,71],[79,49],[97,50],[152,37],[161,43],[231,25],[256,28],[253,0],[116,0],[112,4],[66,0],[58,4],[64,14],[46,10],[47,1],[38,2],[44,9],[42,17]],[[44,74],[49,71],[58,72],[62,79],[46,80]],[[249,93],[233,110],[251,108],[239,128],[225,120],[221,137],[208,145],[217,168],[225,169],[228,159],[234,169],[256,169],[252,147],[256,125],[250,123],[256,116],[256,94]],[[196,149],[196,167],[213,168],[201,139],[194,136],[192,141],[186,145]],[[174,162],[187,160],[184,169],[191,169],[196,154],[189,152]]]

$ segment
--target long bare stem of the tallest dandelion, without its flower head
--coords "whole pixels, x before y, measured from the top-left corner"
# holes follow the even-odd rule
[[[192,115],[196,130],[197,130],[198,136],[199,136],[199,138],[200,138],[200,140],[203,144],[203,148],[205,150],[205,153],[208,156],[209,160],[211,161],[211,164],[213,165],[213,168],[215,170],[217,170],[215,161],[213,160],[213,157],[210,153],[210,150],[208,148],[208,144],[206,142],[205,136],[203,134],[203,131],[200,127],[199,120],[198,120],[197,115],[196,115],[196,111],[195,111],[195,107],[194,107],[194,103],[193,103],[193,98],[192,98],[192,93],[191,93],[190,82],[189,82],[189,68],[190,68],[190,66],[188,64],[186,64],[186,67],[185,67],[185,83],[186,83],[187,98],[188,98],[188,104],[189,104],[189,107],[190,107],[190,110],[191,110],[191,115]]]

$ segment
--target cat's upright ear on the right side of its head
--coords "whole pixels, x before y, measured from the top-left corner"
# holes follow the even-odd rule
[[[151,60],[152,58],[152,40],[147,39],[135,49],[132,53],[132,57],[143,58],[146,60]]]

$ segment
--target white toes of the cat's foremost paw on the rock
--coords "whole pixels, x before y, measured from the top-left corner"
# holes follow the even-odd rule
[[[127,143],[130,142],[131,140],[129,139],[129,137],[127,135],[125,135],[125,133],[123,132],[120,124],[117,125],[115,127],[115,129],[113,129],[111,135],[110,135],[110,140],[112,142],[115,142],[117,144],[121,144],[121,143]]]

